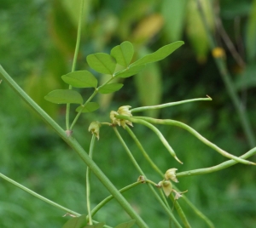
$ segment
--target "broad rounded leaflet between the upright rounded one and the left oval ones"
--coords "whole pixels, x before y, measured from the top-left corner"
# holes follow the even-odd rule
[[[102,74],[113,74],[116,63],[106,53],[89,54],[86,58],[90,68]]]

